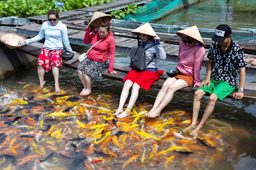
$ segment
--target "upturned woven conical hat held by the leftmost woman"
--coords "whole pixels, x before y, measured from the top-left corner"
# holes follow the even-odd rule
[[[8,43],[8,44],[5,43],[5,45],[10,49],[14,49],[14,48],[23,46],[23,45],[16,46],[16,45],[18,45],[19,41],[22,43],[25,43],[25,40],[21,36],[18,36],[16,34],[2,34],[0,36],[0,39],[1,39],[1,41],[5,40],[6,43]]]

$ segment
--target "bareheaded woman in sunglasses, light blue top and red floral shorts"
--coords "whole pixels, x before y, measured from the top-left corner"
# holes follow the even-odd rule
[[[25,40],[26,44],[34,43],[45,38],[45,43],[42,51],[37,59],[37,73],[40,81],[40,87],[45,84],[44,75],[45,72],[52,70],[55,81],[55,93],[60,92],[59,87],[59,68],[62,66],[61,54],[63,52],[63,44],[68,51],[72,51],[69,40],[67,27],[61,21],[59,21],[59,13],[55,9],[50,9],[47,12],[48,21],[42,24],[39,34],[33,38]]]

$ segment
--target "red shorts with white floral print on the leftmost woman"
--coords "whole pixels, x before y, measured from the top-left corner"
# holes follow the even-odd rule
[[[46,48],[42,48],[42,51],[37,59],[37,65],[40,65],[45,68],[45,72],[49,72],[52,70],[51,65],[55,65],[57,67],[62,66],[62,58],[61,54],[63,53],[62,49],[56,50],[48,50]]]

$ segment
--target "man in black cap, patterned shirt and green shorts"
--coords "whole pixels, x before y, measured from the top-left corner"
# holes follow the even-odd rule
[[[197,135],[207,119],[214,110],[216,100],[222,101],[237,88],[236,78],[239,77],[239,90],[234,93],[235,100],[243,98],[243,87],[245,81],[245,57],[242,48],[231,40],[231,28],[227,24],[221,24],[216,28],[212,37],[210,50],[208,52],[208,64],[206,78],[195,91],[193,102],[193,120],[191,125],[184,130],[194,129],[190,135]],[[215,66],[214,71],[212,71]],[[208,104],[201,122],[197,126],[197,117],[201,105],[201,98],[210,94]]]

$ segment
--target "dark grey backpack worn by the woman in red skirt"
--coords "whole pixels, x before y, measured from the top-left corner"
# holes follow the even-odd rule
[[[134,70],[138,71],[144,71],[146,70],[147,66],[154,60],[156,55],[154,55],[148,63],[146,63],[146,50],[150,49],[151,47],[155,46],[156,44],[153,44],[146,49],[139,48],[139,47],[132,47],[130,51],[130,67]]]

